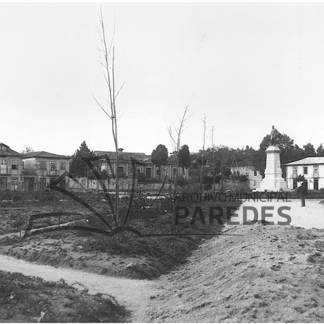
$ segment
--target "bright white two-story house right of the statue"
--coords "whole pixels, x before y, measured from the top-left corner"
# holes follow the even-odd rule
[[[305,157],[301,160],[284,164],[287,170],[287,186],[297,189],[297,178],[304,176],[309,190],[324,188],[324,157]]]

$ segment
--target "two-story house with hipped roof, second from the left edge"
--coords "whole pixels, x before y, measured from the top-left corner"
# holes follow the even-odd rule
[[[23,154],[24,189],[44,189],[65,171],[69,171],[70,159],[69,156],[45,151]],[[65,178],[60,186],[67,189],[68,183],[68,179]]]

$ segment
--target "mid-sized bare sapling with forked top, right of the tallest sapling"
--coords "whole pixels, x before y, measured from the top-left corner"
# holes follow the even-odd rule
[[[176,222],[176,197],[177,197],[177,183],[178,183],[178,167],[179,167],[179,150],[180,150],[180,140],[181,140],[181,135],[184,131],[184,127],[186,124],[186,121],[192,116],[192,113],[189,113],[189,103],[186,105],[186,108],[184,109],[183,115],[180,118],[178,113],[177,113],[177,118],[178,118],[178,124],[175,125],[174,123],[171,123],[170,127],[168,127],[169,135],[171,137],[171,142],[173,146],[173,151],[176,154],[176,174],[175,174],[175,179],[174,179],[174,190],[173,190],[173,219],[174,223]],[[173,174],[171,173],[171,178]]]

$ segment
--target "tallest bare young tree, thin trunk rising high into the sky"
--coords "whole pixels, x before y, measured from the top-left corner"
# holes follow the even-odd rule
[[[99,15],[99,36],[101,47],[98,47],[98,54],[99,54],[99,64],[102,67],[105,83],[107,86],[107,98],[106,101],[108,103],[108,109],[104,108],[99,101],[95,98],[92,94],[93,98],[99,105],[99,107],[104,111],[104,113],[110,118],[111,120],[111,130],[112,136],[115,144],[115,152],[116,152],[116,172],[115,172],[115,181],[116,181],[116,189],[115,189],[115,211],[116,211],[116,222],[117,226],[119,225],[120,220],[120,213],[119,213],[119,155],[118,155],[118,141],[117,141],[117,116],[116,116],[116,105],[115,101],[120,92],[123,88],[124,84],[120,87],[120,89],[115,92],[115,75],[114,75],[114,46],[113,46],[113,37],[114,37],[114,30],[113,35],[111,37],[110,44],[108,44],[105,34],[105,25],[102,16],[101,6],[100,6],[100,15]],[[120,245],[120,233],[117,235],[118,237],[118,245]]]

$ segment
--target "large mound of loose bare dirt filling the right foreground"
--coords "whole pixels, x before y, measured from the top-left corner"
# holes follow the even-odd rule
[[[235,236],[205,241],[164,277],[147,322],[324,322],[323,230],[255,224],[224,234]]]

